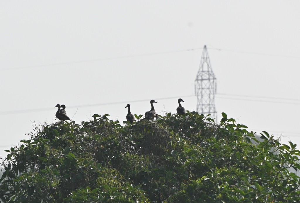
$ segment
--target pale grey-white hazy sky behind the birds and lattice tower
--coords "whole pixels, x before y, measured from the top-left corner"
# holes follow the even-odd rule
[[[151,99],[161,115],[175,113],[178,98],[196,110],[204,45],[218,120],[225,112],[300,144],[299,10],[274,0],[0,1],[0,156],[30,139],[33,121],[55,121],[57,103],[69,117],[79,106],[76,123],[94,113],[122,123],[137,100],[134,114]],[[88,106],[104,103],[116,104]]]

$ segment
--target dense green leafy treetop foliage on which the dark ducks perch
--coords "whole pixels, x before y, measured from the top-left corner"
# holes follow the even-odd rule
[[[7,150],[3,202],[300,202],[296,145],[222,113],[132,125],[94,115],[37,127]],[[137,118],[138,116],[135,115]],[[139,116],[141,118],[142,115]]]

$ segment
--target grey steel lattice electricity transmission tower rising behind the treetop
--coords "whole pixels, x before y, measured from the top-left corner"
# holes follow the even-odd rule
[[[206,45],[204,45],[199,70],[195,79],[195,94],[197,96],[196,109],[199,114],[211,114],[211,118],[217,118],[214,105],[214,94],[216,90],[216,78],[211,69]]]

